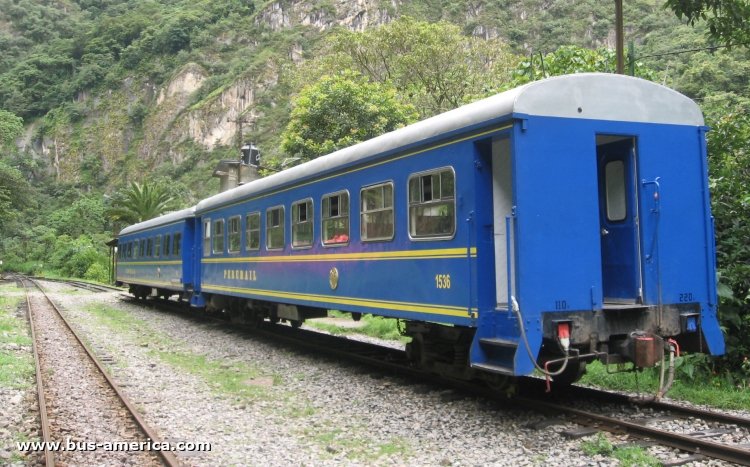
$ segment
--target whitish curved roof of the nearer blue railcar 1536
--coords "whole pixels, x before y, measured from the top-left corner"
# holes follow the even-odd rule
[[[464,105],[219,193],[198,203],[196,212],[200,214],[377,154],[511,115],[703,125],[703,114],[695,102],[651,81],[608,73],[558,76]]]

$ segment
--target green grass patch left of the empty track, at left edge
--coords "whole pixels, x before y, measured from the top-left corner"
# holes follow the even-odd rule
[[[30,352],[10,348],[32,345],[26,321],[15,314],[24,295],[13,285],[4,285],[0,291],[5,292],[0,295],[0,387],[24,389],[34,382],[34,358]]]

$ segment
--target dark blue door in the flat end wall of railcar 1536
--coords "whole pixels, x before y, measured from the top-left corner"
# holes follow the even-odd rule
[[[635,138],[598,135],[599,218],[605,303],[642,303]]]

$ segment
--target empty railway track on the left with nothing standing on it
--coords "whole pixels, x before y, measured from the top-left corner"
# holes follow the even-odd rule
[[[180,465],[171,451],[148,450],[162,445],[158,434],[42,287],[17,281],[26,289],[45,464]]]

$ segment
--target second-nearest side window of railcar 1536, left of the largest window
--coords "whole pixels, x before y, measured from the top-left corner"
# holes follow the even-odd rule
[[[393,239],[393,183],[383,183],[360,192],[362,241]]]

